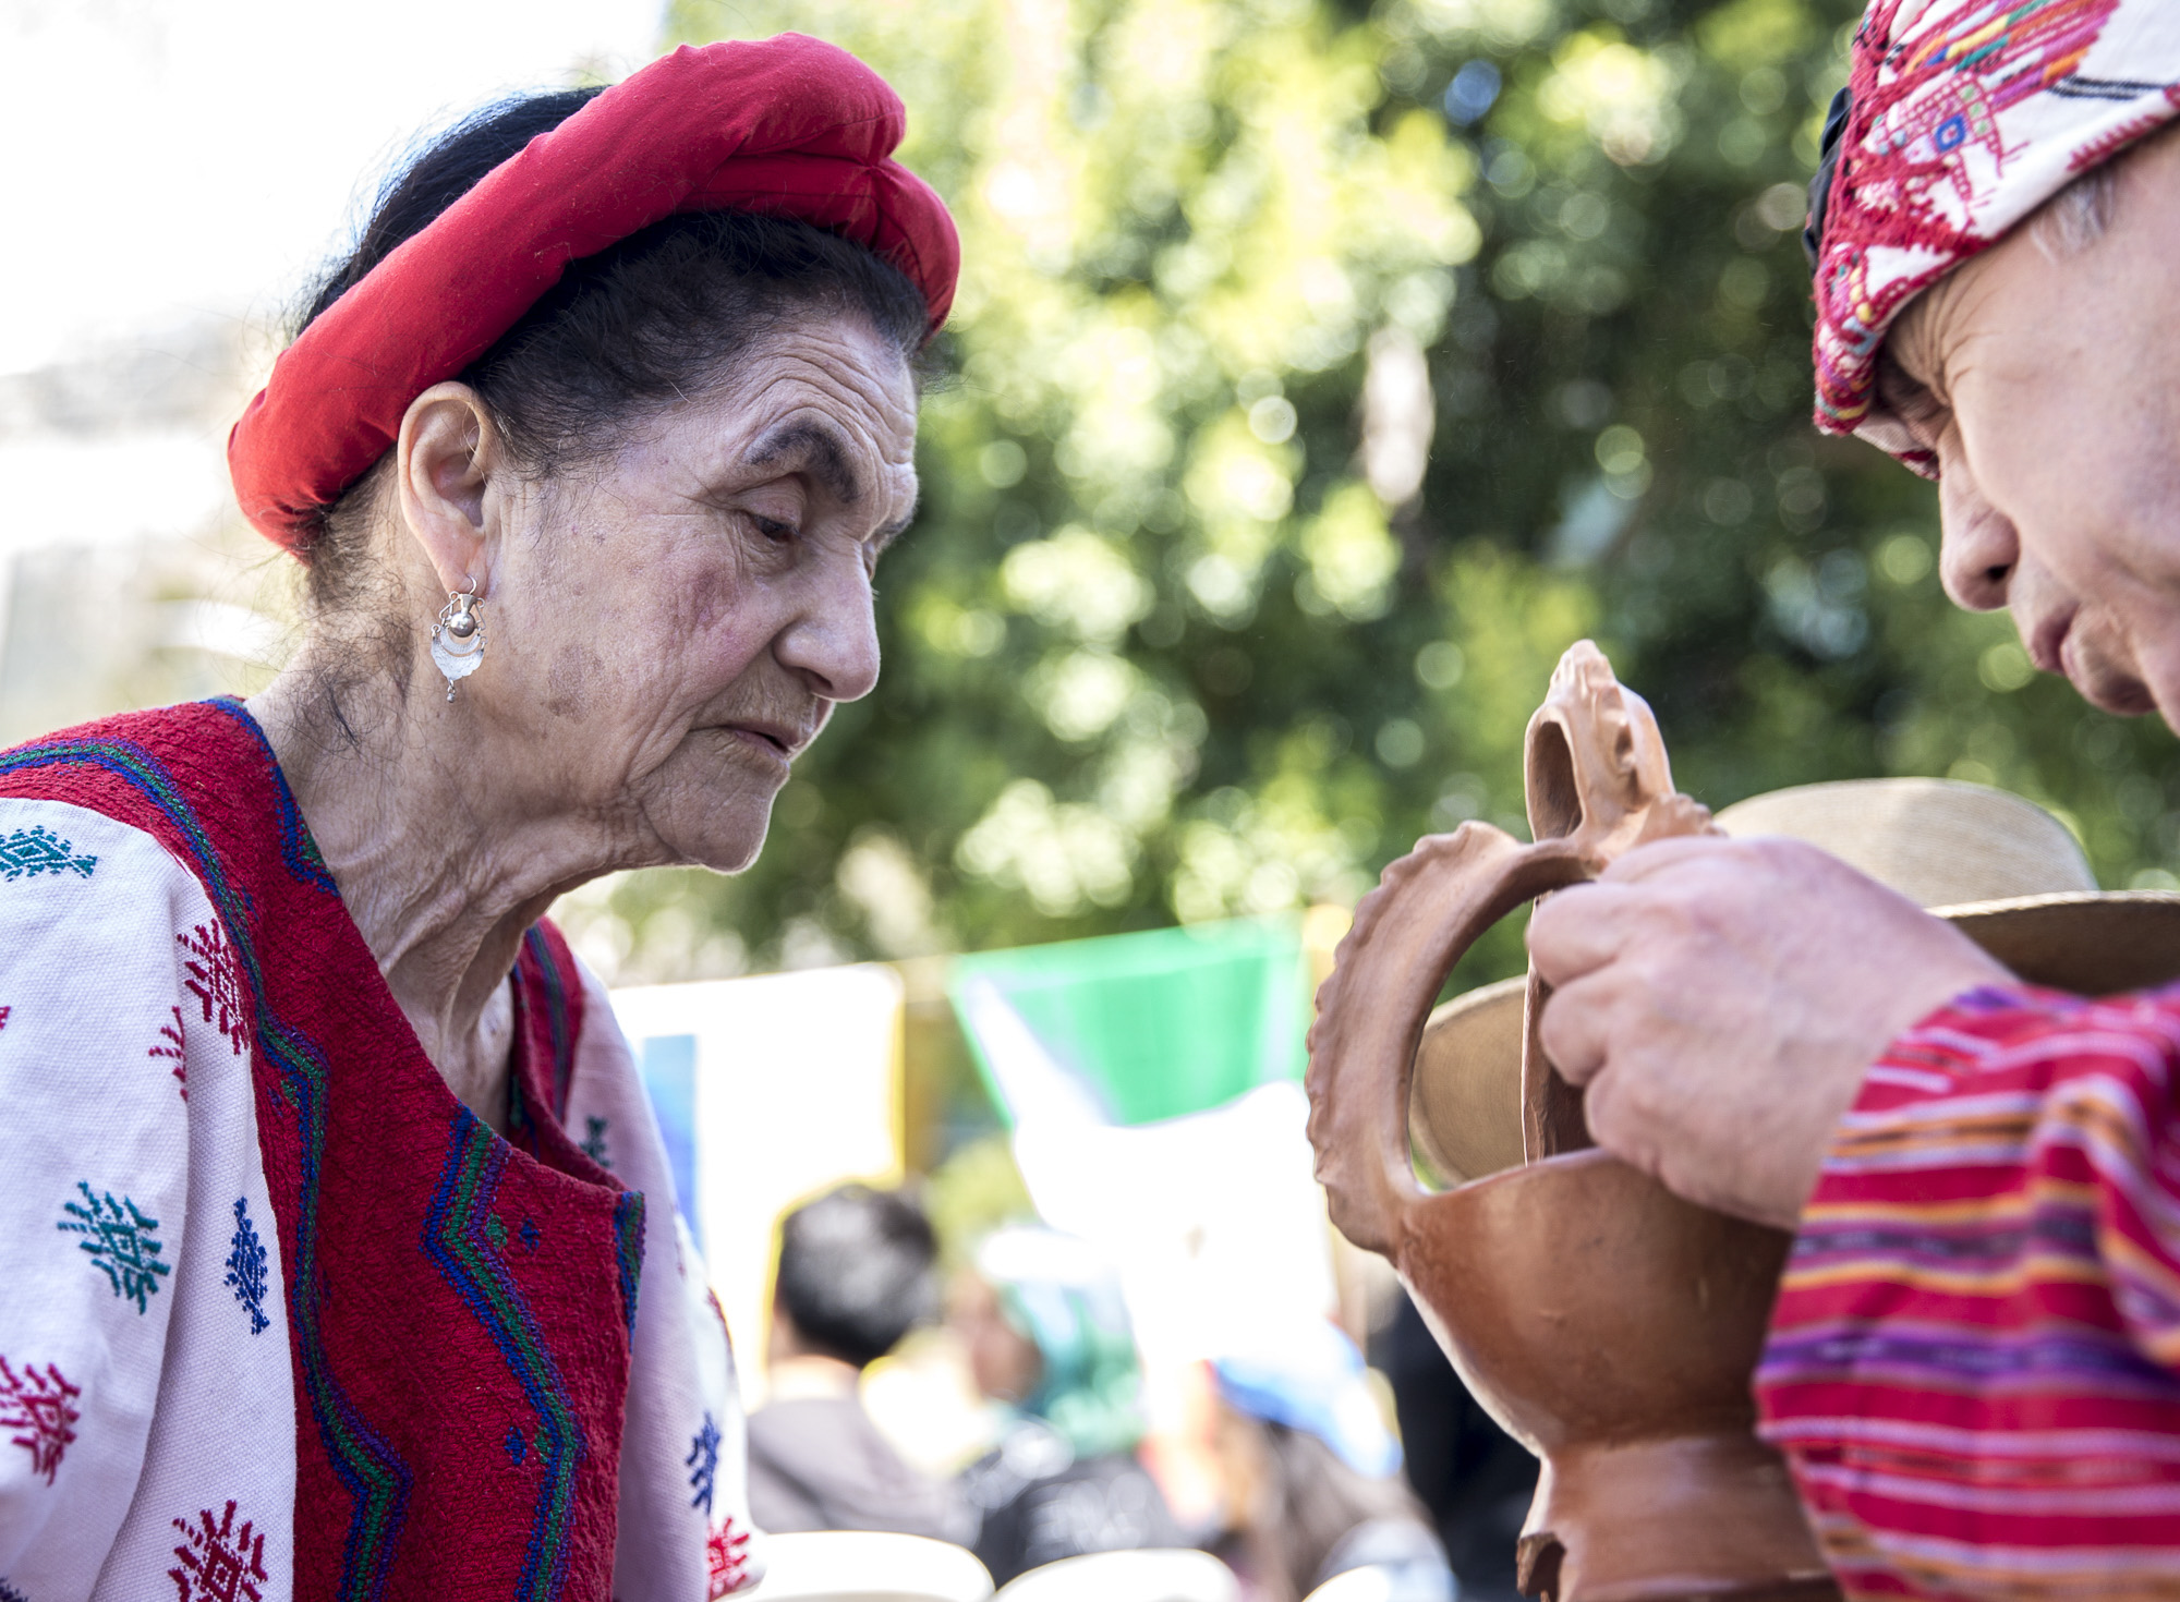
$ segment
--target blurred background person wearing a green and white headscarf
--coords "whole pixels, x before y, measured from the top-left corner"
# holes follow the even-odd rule
[[[985,1238],[950,1323],[977,1388],[1009,1410],[961,1473],[974,1552],[998,1585],[1086,1552],[1186,1545],[1136,1456],[1142,1367],[1112,1266],[1083,1240],[1014,1227]]]

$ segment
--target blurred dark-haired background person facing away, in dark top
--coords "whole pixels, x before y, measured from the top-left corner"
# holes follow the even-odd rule
[[[839,1186],[780,1221],[770,1386],[750,1415],[759,1530],[896,1530],[968,1545],[950,1484],[903,1463],[863,1410],[863,1369],[935,1310],[937,1236],[907,1197]]]

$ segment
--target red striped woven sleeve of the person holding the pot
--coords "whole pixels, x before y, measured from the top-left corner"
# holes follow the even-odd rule
[[[2023,987],[1870,1068],[1757,1371],[1851,1595],[2180,1595],[2176,1066],[2180,987]]]

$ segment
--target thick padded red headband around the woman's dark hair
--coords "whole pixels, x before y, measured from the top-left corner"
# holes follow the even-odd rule
[[[290,344],[227,438],[242,514],[301,549],[395,442],[410,401],[475,362],[595,255],[680,211],[761,211],[841,233],[953,305],[961,242],[892,161],[907,113],[846,50],[783,33],[682,46],[493,168]]]

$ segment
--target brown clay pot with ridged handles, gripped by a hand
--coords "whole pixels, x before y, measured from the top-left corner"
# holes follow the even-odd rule
[[[1581,1094],[1537,1046],[1524,1166],[1430,1194],[1408,1149],[1415,1048],[1445,974],[1526,900],[1620,852],[1709,830],[1657,721],[1596,645],[1552,673],[1526,741],[1535,844],[1432,835],[1356,909],[1310,1029],[1310,1142],[1332,1221],[1393,1260],[1478,1401],[1543,1458],[1519,1580],[1557,1602],[1833,1598],[1748,1375],[1790,1238],[1585,1149]]]

